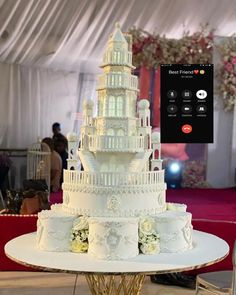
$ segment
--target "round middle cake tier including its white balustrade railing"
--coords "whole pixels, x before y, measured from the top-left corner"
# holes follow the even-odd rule
[[[87,216],[140,216],[166,210],[164,170],[64,171],[63,209]]]

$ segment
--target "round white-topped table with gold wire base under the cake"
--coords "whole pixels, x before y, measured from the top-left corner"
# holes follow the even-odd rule
[[[229,253],[224,240],[196,230],[191,250],[121,261],[97,260],[86,253],[45,252],[36,248],[35,241],[36,233],[17,237],[5,245],[5,253],[20,264],[44,271],[84,274],[92,294],[139,294],[145,275],[197,269],[219,262]]]

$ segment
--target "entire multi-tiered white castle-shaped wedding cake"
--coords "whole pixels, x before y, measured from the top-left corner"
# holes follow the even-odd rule
[[[97,116],[92,101],[83,103],[78,155],[84,171],[77,135],[69,134],[63,204],[39,213],[42,250],[116,260],[192,247],[191,214],[185,205],[166,203],[160,135],[152,134],[148,100],[137,105],[131,46],[131,36],[116,25],[101,65]]]

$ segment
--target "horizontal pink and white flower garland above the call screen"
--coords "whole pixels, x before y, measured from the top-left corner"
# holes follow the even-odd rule
[[[137,68],[157,69],[160,64],[212,62],[213,30],[208,25],[192,35],[183,32],[180,39],[169,39],[137,28],[129,33],[133,37],[133,61]]]

